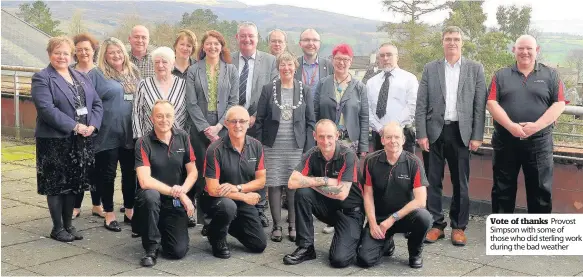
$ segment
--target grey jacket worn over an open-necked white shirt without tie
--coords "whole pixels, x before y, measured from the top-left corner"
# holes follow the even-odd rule
[[[445,95],[445,59],[442,58],[423,69],[415,109],[417,138],[429,138],[429,143],[439,138],[445,122]],[[456,107],[465,146],[469,146],[470,140],[484,138],[486,98],[484,66],[462,57]]]

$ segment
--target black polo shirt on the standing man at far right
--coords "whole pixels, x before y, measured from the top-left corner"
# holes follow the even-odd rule
[[[536,122],[555,102],[565,101],[565,85],[555,69],[542,63],[536,62],[528,76],[514,64],[494,74],[488,100],[498,101],[513,122]],[[501,134],[510,134],[496,121],[494,128]]]

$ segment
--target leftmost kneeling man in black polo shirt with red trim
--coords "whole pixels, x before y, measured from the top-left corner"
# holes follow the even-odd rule
[[[188,217],[194,205],[186,193],[198,172],[188,134],[172,128],[174,107],[158,100],[152,108],[154,129],[136,142],[135,227],[142,236],[146,256],[142,266],[154,266],[158,250],[180,259],[188,252]]]

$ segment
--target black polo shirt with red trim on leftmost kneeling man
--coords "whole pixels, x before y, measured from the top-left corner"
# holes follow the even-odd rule
[[[172,128],[168,144],[152,130],[138,139],[135,147],[135,168],[149,166],[151,176],[169,186],[182,185],[187,175],[185,165],[196,160],[188,134],[180,129]]]

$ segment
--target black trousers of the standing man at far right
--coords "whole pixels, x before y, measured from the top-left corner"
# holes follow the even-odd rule
[[[494,133],[492,213],[513,213],[518,172],[522,167],[529,213],[550,213],[553,185],[552,129],[525,140]]]

